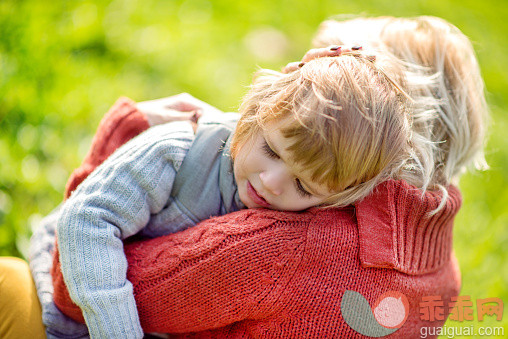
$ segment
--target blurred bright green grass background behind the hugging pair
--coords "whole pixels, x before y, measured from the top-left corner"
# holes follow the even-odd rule
[[[508,303],[504,0],[0,1],[0,255],[26,256],[32,227],[61,201],[116,98],[189,92],[234,111],[258,66],[299,59],[318,24],[344,13],[440,16],[474,42],[492,111],[491,169],[461,182],[455,250],[461,294]],[[447,325],[508,335],[506,313],[501,323]]]

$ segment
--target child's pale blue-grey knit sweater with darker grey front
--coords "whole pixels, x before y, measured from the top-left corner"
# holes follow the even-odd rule
[[[123,239],[174,233],[244,207],[228,156],[236,119],[225,114],[200,123],[196,135],[185,122],[147,130],[99,166],[57,212],[62,273],[92,337],[143,336]],[[44,310],[54,305],[41,303],[46,318],[55,314],[45,323],[65,333],[58,328],[69,324]]]

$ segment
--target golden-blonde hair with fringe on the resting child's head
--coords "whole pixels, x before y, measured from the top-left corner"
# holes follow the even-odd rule
[[[262,70],[240,107],[233,158],[256,133],[283,121],[291,162],[337,192],[345,206],[393,177],[410,157],[409,101],[362,54],[317,58],[295,72]]]

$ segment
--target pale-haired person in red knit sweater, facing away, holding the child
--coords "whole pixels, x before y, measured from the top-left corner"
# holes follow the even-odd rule
[[[346,296],[351,290],[371,306],[387,291],[409,299],[408,318],[394,336],[414,336],[423,326],[443,324],[447,308],[426,320],[420,317],[420,302],[439,296],[446,303],[459,290],[451,234],[460,193],[450,184],[465,165],[481,162],[486,112],[473,50],[458,30],[435,18],[357,19],[330,25],[324,24],[316,41],[331,37],[327,45],[348,43],[347,37],[364,48],[378,49],[378,55],[420,65],[408,66],[407,74],[424,76],[429,82],[405,86],[417,98],[431,93],[439,100],[430,104],[417,100],[413,113],[416,137],[429,144],[415,152],[434,165],[425,168],[435,169],[425,176],[431,179],[419,185],[429,189],[422,194],[404,177],[393,178],[397,180],[380,185],[354,207],[299,215],[239,212],[182,233],[128,245],[129,280],[137,291],[146,331],[272,337],[372,333],[362,332],[365,326],[358,327],[350,318],[346,321],[351,307]],[[414,41],[415,46],[401,46],[401,41]],[[327,52],[312,53],[306,58]],[[141,114],[131,102],[120,106],[124,109],[117,107],[112,115]],[[121,128],[107,132],[112,131],[123,133]],[[125,136],[110,145],[118,146],[125,141],[121,139]],[[109,154],[95,151],[81,167],[83,173]],[[154,268],[154,262],[163,267]],[[34,271],[36,280],[37,274]],[[39,288],[43,304],[48,295],[49,290],[41,294]],[[372,331],[383,330],[379,324],[371,325],[367,327]],[[76,328],[64,330],[72,334]]]

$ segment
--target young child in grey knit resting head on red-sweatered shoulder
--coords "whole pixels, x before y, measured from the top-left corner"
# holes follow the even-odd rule
[[[196,134],[185,122],[149,129],[76,189],[57,238],[63,277],[92,337],[143,335],[122,240],[244,207],[348,205],[406,165],[406,96],[377,61],[342,54],[288,74],[262,72],[236,129],[228,115]]]

